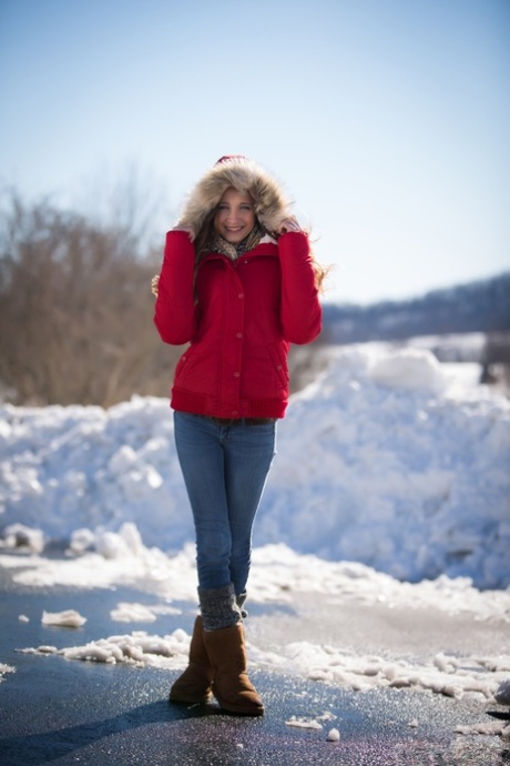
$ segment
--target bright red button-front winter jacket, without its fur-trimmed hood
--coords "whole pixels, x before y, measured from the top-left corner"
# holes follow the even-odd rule
[[[261,242],[237,261],[210,253],[196,278],[194,246],[166,235],[154,322],[165,343],[190,343],[171,406],[215,417],[283,417],[290,343],[320,332],[322,311],[302,232]]]

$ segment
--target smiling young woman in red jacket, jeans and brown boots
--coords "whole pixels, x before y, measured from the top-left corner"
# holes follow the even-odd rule
[[[231,713],[264,712],[242,622],[252,526],[288,402],[289,344],[320,332],[323,275],[279,184],[244,157],[205,173],[166,235],[154,321],[165,343],[190,344],[171,406],[201,612],[173,702],[214,694]]]

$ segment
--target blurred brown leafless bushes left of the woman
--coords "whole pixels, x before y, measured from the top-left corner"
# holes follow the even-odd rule
[[[166,395],[180,350],[152,322],[160,252],[128,224],[102,225],[11,193],[0,225],[0,382],[17,404],[100,404]]]

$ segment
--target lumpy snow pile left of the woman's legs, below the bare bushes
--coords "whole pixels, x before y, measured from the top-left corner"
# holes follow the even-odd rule
[[[2,526],[42,527],[47,538],[133,521],[151,544],[181,547],[193,528],[167,401],[1,407],[0,510]]]

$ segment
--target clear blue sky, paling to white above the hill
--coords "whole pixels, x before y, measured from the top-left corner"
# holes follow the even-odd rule
[[[163,241],[217,158],[275,173],[367,302],[510,269],[509,0],[0,0],[0,181]],[[145,185],[144,185],[145,184]]]

